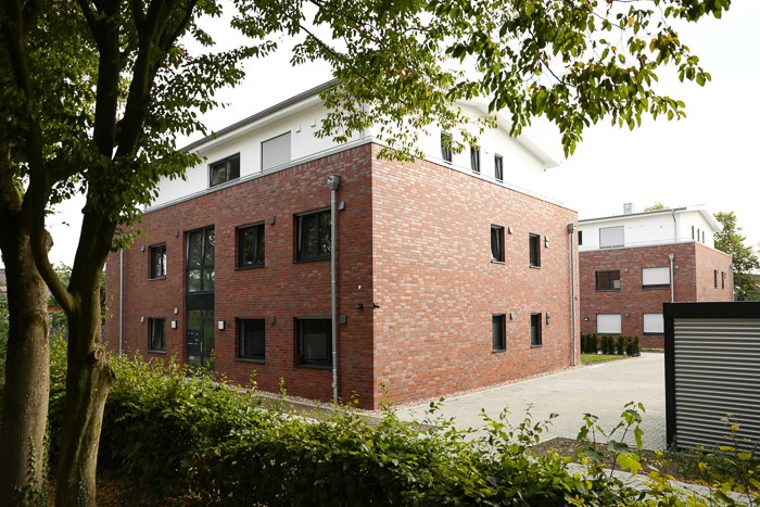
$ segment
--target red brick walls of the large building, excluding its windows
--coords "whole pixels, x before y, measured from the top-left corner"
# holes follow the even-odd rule
[[[338,174],[341,398],[377,408],[383,389],[405,403],[570,366],[567,224],[575,212],[433,163],[381,161],[378,151],[347,149],[145,213],[143,236],[123,253],[125,353],[186,362],[186,235],[213,226],[214,327],[226,324],[215,329],[217,375],[245,384],[255,371],[262,391],[277,392],[281,378],[289,394],[331,400],[331,370],[295,364],[295,318],[330,317],[330,262],[295,262],[294,238],[297,214],[329,207],[327,175]],[[236,228],[256,223],[265,224],[265,266],[239,269]],[[504,263],[491,262],[492,225],[511,228]],[[540,268],[529,265],[531,233],[541,237]],[[167,276],[150,280],[150,246],[161,243]],[[106,277],[106,340],[116,351],[119,254]],[[543,343],[532,347],[536,313]],[[493,315],[506,316],[505,352],[493,351]],[[147,351],[149,318],[177,321],[165,353]],[[237,358],[237,318],[266,319],[264,362]]]

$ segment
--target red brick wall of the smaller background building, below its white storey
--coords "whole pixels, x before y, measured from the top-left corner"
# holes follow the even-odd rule
[[[662,313],[662,303],[671,300],[670,287],[643,288],[642,269],[670,268],[669,254],[673,254],[675,302],[733,301],[731,255],[701,243],[581,252],[581,332],[596,332],[598,314],[621,314],[622,334],[638,335],[643,347],[662,348],[663,334],[644,333],[644,314]],[[620,290],[597,291],[596,272],[612,270],[620,270]]]

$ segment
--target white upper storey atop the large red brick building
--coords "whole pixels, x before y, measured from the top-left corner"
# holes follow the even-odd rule
[[[372,131],[355,135],[342,144],[330,138],[316,137],[321,121],[327,116],[327,109],[319,99],[319,92],[330,85],[325,84],[301,93],[186,147],[185,150],[198,153],[202,162],[188,168],[185,180],[164,178],[159,183],[159,195],[150,208],[192,199],[354,145],[379,142],[372,136]],[[487,112],[484,103],[467,102],[458,105],[470,117],[482,117]],[[443,160],[441,130],[436,127],[426,129],[420,136],[419,148],[431,162],[546,199],[541,194],[545,186],[544,178],[549,177],[545,169],[557,167],[559,159],[528,135],[510,137],[507,118],[498,115],[497,119],[498,128],[489,129],[480,137],[480,174],[472,172],[469,150],[454,153],[451,163]],[[455,138],[458,136],[456,130],[451,134]],[[275,156],[278,163],[274,166],[268,161],[271,160],[269,150],[275,143],[267,144],[273,139],[278,139],[275,143],[279,145]],[[269,148],[263,150],[265,144]],[[264,155],[263,151],[267,151],[267,154]],[[237,154],[240,156],[239,178],[212,186],[212,165]],[[496,180],[497,155],[503,161],[503,181]]]

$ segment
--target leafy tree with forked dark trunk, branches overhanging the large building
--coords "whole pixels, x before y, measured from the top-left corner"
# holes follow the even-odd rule
[[[219,105],[220,87],[241,81],[242,60],[275,51],[284,35],[295,39],[294,64],[328,62],[337,81],[322,94],[331,112],[319,134],[339,141],[376,125],[395,156],[409,157],[430,124],[467,123],[454,101],[487,97],[491,112],[508,110],[514,135],[545,116],[571,153],[604,118],[634,128],[645,115],[682,117],[684,104],[655,90],[656,72],[671,65],[698,85],[710,75],[671,23],[720,17],[729,5],[232,0],[231,26],[248,43],[218,50],[214,36],[224,34],[201,23],[221,15],[214,0],[0,3],[0,216],[18,225],[3,229],[3,244],[28,238],[69,327],[59,503],[94,502],[92,447],[114,382],[100,341],[105,258],[128,242],[119,226],[139,218],[157,181],[198,162],[176,150],[175,137],[203,130],[199,113]],[[182,37],[203,49],[190,53]],[[464,128],[454,149],[487,123]],[[45,217],[74,193],[87,201],[65,286],[48,259]]]

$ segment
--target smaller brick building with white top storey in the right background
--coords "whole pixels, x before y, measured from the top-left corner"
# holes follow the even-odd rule
[[[581,332],[664,346],[662,303],[733,301],[732,258],[704,207],[579,220]]]

